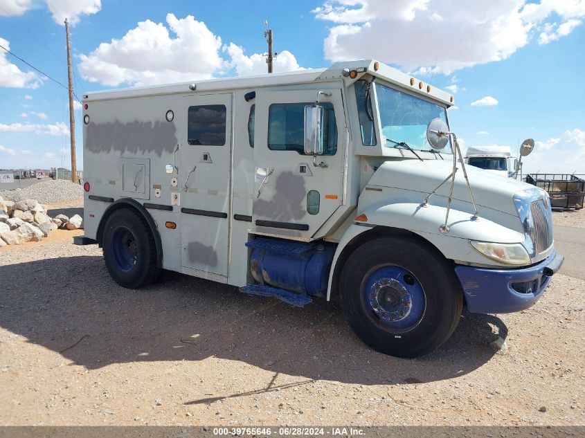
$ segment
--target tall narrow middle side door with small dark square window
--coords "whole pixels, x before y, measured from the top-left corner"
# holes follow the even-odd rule
[[[185,100],[187,136],[179,170],[181,265],[222,281],[228,275],[232,95]]]

